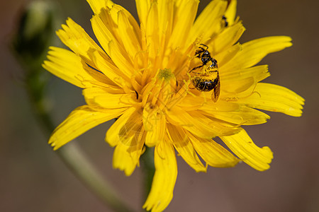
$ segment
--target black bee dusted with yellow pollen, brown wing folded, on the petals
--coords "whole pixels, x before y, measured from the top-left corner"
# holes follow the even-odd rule
[[[195,52],[195,57],[201,59],[201,65],[196,66],[189,73],[195,73],[191,82],[197,90],[203,92],[209,92],[213,90],[211,99],[216,102],[220,94],[220,79],[218,72],[218,64],[216,59],[211,57],[211,53],[208,52],[208,46],[201,44]],[[201,71],[195,72],[194,70],[200,69]]]

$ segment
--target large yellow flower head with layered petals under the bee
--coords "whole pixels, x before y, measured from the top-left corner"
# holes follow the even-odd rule
[[[287,88],[260,83],[269,76],[268,66],[255,66],[267,54],[290,47],[290,37],[238,43],[245,28],[236,18],[236,1],[211,1],[196,18],[198,0],[136,0],[140,25],[112,1],[87,1],[100,45],[68,18],[57,35],[71,51],[50,47],[43,64],[84,88],[86,100],[53,131],[49,143],[55,150],[117,118],[106,133],[106,141],[115,147],[113,167],[131,175],[143,147],[155,146],[156,171],[143,206],[152,211],[163,211],[172,200],[175,149],[196,172],[206,172],[208,165],[233,167],[240,160],[259,171],[269,168],[272,151],[254,145],[242,125],[267,122],[269,116],[256,109],[301,116],[303,98]],[[211,55],[204,66],[196,55],[201,48]],[[211,77],[203,71],[213,59],[220,79],[215,102],[213,91],[198,90],[193,81],[195,76]],[[215,137],[240,159],[213,141]]]

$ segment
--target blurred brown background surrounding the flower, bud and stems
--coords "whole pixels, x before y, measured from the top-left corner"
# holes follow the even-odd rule
[[[11,52],[18,19],[28,2],[0,1],[0,211],[111,211],[47,145],[49,134],[33,114],[24,87],[25,73]],[[134,1],[114,2],[137,17]],[[55,4],[61,16],[57,28],[71,17],[93,36],[92,12],[86,1]],[[199,11],[207,4],[201,1]],[[293,47],[270,54],[261,64],[269,64],[272,76],[267,82],[290,88],[306,99],[303,116],[267,112],[272,117],[267,124],[245,127],[258,146],[269,146],[274,152],[272,167],[266,172],[242,163],[196,173],[177,157],[177,184],[166,211],[319,211],[318,8],[318,1],[310,0],[238,1],[237,14],[247,28],[240,42],[269,35],[293,38]],[[59,78],[52,77],[47,90],[56,125],[84,104],[81,90]],[[97,126],[77,143],[123,199],[141,211],[145,201],[141,169],[130,177],[113,170],[113,148],[103,141],[112,123]]]

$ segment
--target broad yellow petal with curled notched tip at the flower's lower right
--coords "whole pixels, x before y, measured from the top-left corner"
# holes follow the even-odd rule
[[[269,169],[269,163],[272,162],[273,158],[272,151],[268,146],[262,148],[256,146],[245,130],[242,129],[233,136],[222,136],[220,139],[235,155],[254,169],[259,171]]]

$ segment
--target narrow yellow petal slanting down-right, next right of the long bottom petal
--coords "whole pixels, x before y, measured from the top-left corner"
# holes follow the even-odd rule
[[[189,137],[181,127],[167,124],[167,134],[179,152],[179,155],[181,155],[181,158],[183,158],[190,167],[196,172],[206,172],[206,167],[201,163],[201,160],[199,160],[192,143],[189,141]]]

